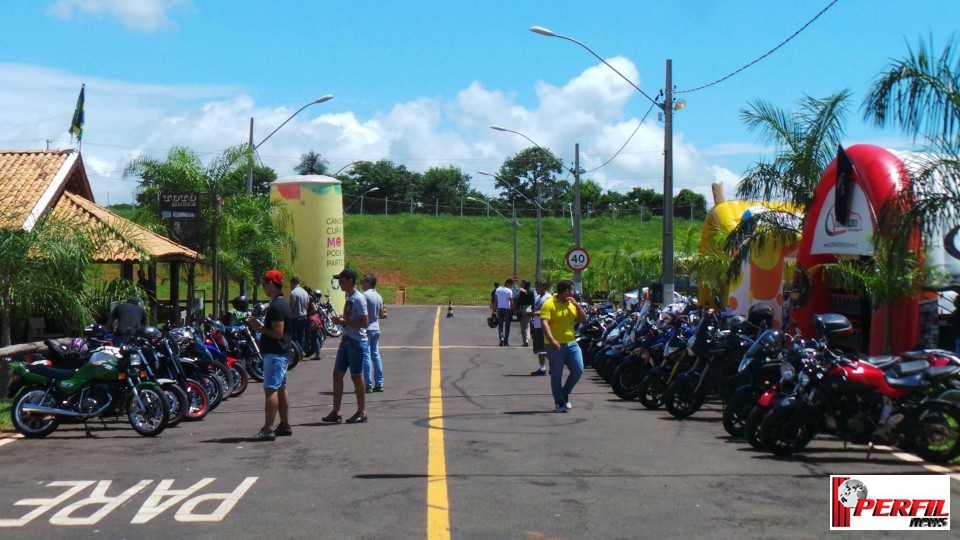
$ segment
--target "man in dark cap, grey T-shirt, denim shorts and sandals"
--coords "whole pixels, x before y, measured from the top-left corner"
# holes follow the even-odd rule
[[[353,391],[357,395],[357,412],[347,419],[347,423],[357,424],[367,421],[363,383],[363,362],[370,354],[367,341],[367,325],[370,324],[367,299],[357,290],[357,273],[353,270],[345,268],[333,278],[340,284],[340,289],[346,293],[347,298],[343,305],[343,315],[331,318],[334,324],[343,327],[343,335],[340,337],[340,347],[333,365],[333,411],[324,416],[323,421],[336,424],[343,422],[343,415],[340,414],[343,377],[349,369]]]

